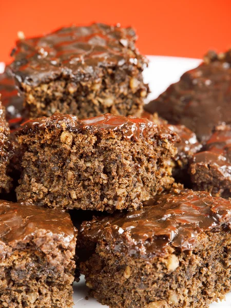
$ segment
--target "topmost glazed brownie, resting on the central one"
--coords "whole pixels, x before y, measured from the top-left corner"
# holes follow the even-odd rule
[[[147,60],[136,38],[132,28],[92,24],[18,41],[11,68],[30,117],[139,115],[147,95],[142,77]]]

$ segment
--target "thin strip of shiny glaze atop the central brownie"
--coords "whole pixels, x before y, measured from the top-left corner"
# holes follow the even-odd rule
[[[64,125],[65,123],[65,125]],[[70,114],[54,113],[50,118],[38,118],[29,120],[16,131],[16,136],[26,134],[28,131],[40,129],[60,128],[73,132],[91,132],[97,131],[114,131],[122,134],[124,139],[137,141],[139,138],[153,137],[154,133],[161,133],[162,137],[169,137],[171,134],[177,140],[177,135],[171,133],[166,127],[160,127],[147,119],[140,119],[137,117],[121,117],[110,113],[99,115],[98,117],[79,120],[78,117]]]

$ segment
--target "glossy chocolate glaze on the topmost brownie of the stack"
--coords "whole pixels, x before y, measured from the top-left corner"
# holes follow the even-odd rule
[[[146,60],[134,47],[135,42],[134,30],[119,25],[61,28],[45,36],[17,41],[11,67],[18,82],[28,85],[60,75],[83,79],[83,74],[91,76],[102,67],[125,63],[141,68]]]

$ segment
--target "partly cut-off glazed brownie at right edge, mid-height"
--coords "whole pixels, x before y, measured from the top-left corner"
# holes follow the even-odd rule
[[[220,125],[201,152],[194,155],[189,174],[196,190],[231,197],[231,127]]]

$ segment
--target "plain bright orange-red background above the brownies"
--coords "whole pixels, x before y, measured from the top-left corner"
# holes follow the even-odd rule
[[[144,54],[202,57],[231,46],[231,0],[0,0],[0,61],[17,31],[39,35],[63,25],[133,26]]]

